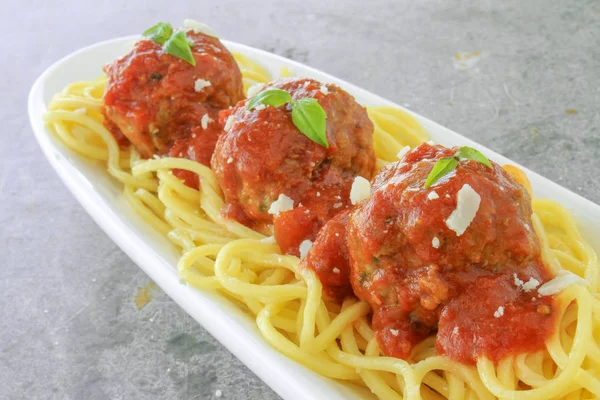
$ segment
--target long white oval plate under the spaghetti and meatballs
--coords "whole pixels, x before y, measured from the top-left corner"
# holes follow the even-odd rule
[[[42,116],[55,93],[71,82],[97,78],[102,73],[101,67],[105,63],[125,54],[137,39],[137,36],[130,36],[81,49],[48,68],[35,82],[29,94],[29,118],[48,161],[104,232],[173,300],[281,397],[372,398],[366,390],[323,378],[278,353],[262,338],[254,319],[218,293],[199,291],[180,283],[175,270],[179,253],[167,239],[156,233],[130,209],[121,195],[121,184],[108,175],[101,163],[74,154],[46,129]],[[274,77],[278,76],[282,66],[287,66],[296,76],[311,77],[341,86],[363,105],[384,105],[403,109],[377,95],[296,61],[237,43],[223,43],[230,50],[246,54],[260,62]],[[409,110],[405,111],[417,118],[438,143],[447,146],[473,146],[496,162],[518,165],[435,122]],[[573,212],[582,234],[596,251],[600,251],[600,206],[526,168],[523,170],[531,180],[534,194],[554,199]]]

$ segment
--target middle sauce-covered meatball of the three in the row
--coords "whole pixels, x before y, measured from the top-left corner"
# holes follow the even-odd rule
[[[314,239],[318,229],[349,204],[355,176],[374,174],[373,124],[365,109],[339,87],[312,79],[280,79],[264,90],[288,91],[294,101],[314,98],[327,114],[328,148],[294,125],[289,104],[248,110],[248,100],[222,111],[223,134],[212,168],[223,189],[225,213],[259,230],[275,226],[284,252]],[[273,203],[287,200],[289,207]],[[285,211],[285,212],[284,212]]]

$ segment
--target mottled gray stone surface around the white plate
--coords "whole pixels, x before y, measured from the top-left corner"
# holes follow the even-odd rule
[[[31,133],[51,63],[159,20],[339,76],[600,202],[600,2],[6,2],[0,16],[0,398],[275,399],[100,231]],[[479,51],[473,68],[457,52]],[[566,110],[576,110],[569,114]]]

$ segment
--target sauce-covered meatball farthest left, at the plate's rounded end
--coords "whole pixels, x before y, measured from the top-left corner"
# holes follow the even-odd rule
[[[201,128],[205,115],[216,120],[216,112],[244,98],[240,70],[222,43],[191,30],[187,37],[196,66],[143,39],[104,67],[105,125],[117,140],[124,135],[142,157],[166,154],[175,141]],[[209,139],[213,145],[202,159],[212,154],[215,140]]]

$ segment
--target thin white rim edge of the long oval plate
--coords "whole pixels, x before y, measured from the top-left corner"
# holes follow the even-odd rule
[[[107,211],[110,213],[111,207],[106,202],[98,203],[94,199],[93,193],[90,194],[89,189],[86,189],[85,187],[82,187],[80,185],[80,181],[82,179],[87,180],[87,178],[84,177],[83,173],[77,171],[77,168],[75,168],[75,166],[71,164],[72,168],[75,171],[77,171],[77,173],[79,174],[79,176],[77,176],[76,174],[74,175],[72,173],[72,171],[68,170],[67,166],[63,165],[64,162],[61,162],[61,160],[57,159],[55,154],[53,154],[53,150],[56,150],[57,148],[56,148],[55,144],[53,143],[53,141],[50,139],[49,136],[51,135],[51,133],[45,127],[45,123],[43,122],[42,116],[39,115],[40,113],[38,110],[40,102],[44,106],[41,110],[45,111],[47,109],[46,108],[47,104],[44,102],[44,98],[43,98],[43,84],[47,81],[48,77],[51,76],[55,72],[55,70],[59,69],[61,66],[65,65],[65,64],[69,63],[72,59],[76,58],[78,55],[80,55],[84,52],[92,51],[101,46],[116,45],[117,43],[124,43],[127,40],[133,40],[133,39],[136,39],[139,37],[140,37],[139,35],[124,36],[124,37],[104,40],[104,41],[97,42],[92,45],[83,47],[81,49],[78,49],[72,53],[69,53],[69,54],[63,56],[62,58],[60,58],[59,60],[54,62],[51,66],[46,68],[44,70],[44,72],[42,72],[42,74],[40,74],[37,77],[37,79],[33,83],[31,90],[29,92],[28,101],[27,101],[27,109],[28,109],[30,125],[34,132],[35,138],[36,138],[38,144],[40,145],[45,157],[48,159],[48,162],[50,163],[50,165],[52,165],[53,169],[56,171],[56,173],[60,177],[63,184],[69,189],[69,191],[77,199],[78,203],[86,210],[86,212],[96,222],[96,224],[104,231],[104,233],[107,234],[111,238],[111,240],[113,242],[115,242],[115,244],[119,248],[121,248],[121,250],[125,254],[127,254],[127,256],[129,258],[131,258],[132,261],[135,264],[137,264],[139,268],[142,269],[142,271],[144,271],[154,282],[156,282],[156,284],[159,285],[162,288],[162,290],[169,297],[171,297],[176,303],[178,303],[178,305],[180,307],[182,307],[189,315],[191,315],[198,323],[200,323],[204,327],[204,329],[206,329],[208,332],[210,332],[211,335],[217,341],[219,341],[224,347],[226,347],[228,349],[228,351],[230,351],[236,358],[238,358],[240,361],[242,361],[253,373],[255,373],[267,385],[269,385],[275,392],[277,392],[277,394],[279,394],[281,397],[286,398],[286,399],[313,398],[312,396],[315,396],[317,394],[323,394],[322,390],[325,390],[325,392],[327,392],[326,389],[328,389],[328,388],[323,387],[323,385],[325,385],[325,386],[334,386],[333,390],[331,391],[331,394],[333,394],[333,395],[337,394],[338,397],[336,397],[336,398],[340,398],[340,399],[347,398],[345,396],[347,396],[348,393],[345,393],[345,390],[340,388],[340,386],[342,386],[342,384],[337,383],[334,380],[330,380],[328,378],[324,378],[324,377],[321,377],[320,375],[317,375],[313,371],[308,370],[307,368],[301,366],[299,363],[296,363],[295,361],[287,358],[285,355],[279,353],[277,350],[272,348],[268,343],[264,343],[264,344],[266,344],[266,346],[264,346],[264,344],[261,346],[261,344],[258,343],[256,340],[254,340],[254,338],[252,338],[250,335],[242,334],[241,336],[245,336],[247,340],[239,341],[239,343],[236,344],[236,343],[234,343],[236,341],[235,339],[228,339],[228,337],[236,338],[236,337],[240,336],[239,334],[235,333],[233,335],[222,335],[222,334],[220,334],[220,332],[218,332],[219,328],[222,328],[222,327],[216,326],[216,325],[210,324],[210,323],[204,323],[203,321],[201,321],[202,318],[199,319],[199,317],[198,317],[198,314],[199,314],[198,310],[191,309],[192,306],[195,306],[195,302],[191,302],[191,303],[189,302],[190,293],[192,293],[192,291],[196,291],[196,289],[193,289],[189,286],[182,286],[179,282],[177,282],[177,285],[174,285],[174,283],[173,283],[174,278],[173,278],[173,276],[171,276],[172,274],[167,273],[166,269],[149,267],[150,265],[153,265],[154,263],[157,263],[157,262],[163,263],[164,260],[158,260],[158,261],[156,259],[152,260],[152,258],[154,257],[152,252],[136,251],[140,247],[141,248],[150,248],[150,250],[153,250],[153,249],[150,247],[150,245],[148,243],[146,243],[146,241],[144,240],[143,237],[140,237],[137,235],[133,235],[132,237],[126,237],[125,233],[129,229],[126,229],[125,231],[122,230],[123,223],[121,223],[119,218],[114,218],[114,217],[106,218],[106,213],[107,213]],[[376,99],[382,105],[401,109],[402,111],[409,113],[413,117],[416,117],[419,120],[419,122],[421,122],[424,125],[433,127],[435,129],[441,129],[443,131],[450,132],[453,135],[456,135],[457,137],[460,137],[460,140],[462,142],[464,142],[467,145],[471,145],[473,147],[482,149],[486,153],[490,154],[492,156],[491,158],[496,158],[496,159],[500,158],[505,161],[510,161],[511,164],[514,164],[514,165],[518,166],[519,168],[522,168],[523,171],[525,171],[527,176],[532,181],[541,181],[543,183],[543,185],[546,186],[547,191],[556,191],[557,193],[560,193],[560,196],[562,196],[564,199],[564,200],[560,201],[561,204],[563,206],[567,207],[568,209],[570,209],[571,211],[573,211],[572,207],[575,207],[575,206],[577,208],[584,207],[587,209],[594,210],[594,214],[600,216],[600,206],[593,203],[591,200],[588,200],[588,199],[582,197],[581,195],[574,193],[571,190],[569,190],[563,186],[560,186],[559,184],[520,165],[519,163],[516,163],[516,162],[510,160],[509,158],[504,157],[503,155],[497,153],[496,151],[493,151],[493,150],[491,150],[491,149],[489,149],[489,148],[487,148],[465,136],[458,134],[457,132],[454,132],[446,127],[443,127],[442,125],[439,125],[436,122],[431,121],[430,119],[428,119],[420,114],[417,114],[416,112],[414,112],[412,110],[406,109],[406,108],[404,108],[390,100],[387,100],[377,94],[371,93],[371,92],[369,92],[365,89],[362,89],[352,83],[349,83],[343,79],[336,78],[333,75],[330,75],[329,73],[326,73],[326,72],[323,72],[316,68],[307,66],[300,62],[290,60],[285,57],[279,56],[277,54],[273,54],[268,51],[265,51],[262,49],[257,49],[257,48],[247,46],[244,44],[240,44],[240,43],[236,43],[236,42],[232,42],[232,41],[228,41],[228,40],[222,40],[222,42],[228,48],[230,48],[234,51],[242,50],[241,52],[246,53],[246,54],[248,54],[248,53],[255,54],[255,55],[258,55],[259,57],[265,57],[265,58],[277,60],[288,66],[299,67],[304,70],[316,72],[322,76],[327,77],[328,79],[335,81],[336,84],[340,85],[341,87],[343,87],[345,90],[348,90],[349,92],[361,93],[364,96],[372,97],[372,98]],[[259,59],[258,61],[260,62],[261,60]],[[100,67],[101,66],[99,66],[99,69],[100,69]],[[426,127],[426,129],[427,129],[427,127]],[[58,152],[60,153],[61,150],[58,150]],[[68,163],[68,161],[67,161],[67,163]],[[565,204],[565,203],[568,203],[568,204]],[[598,222],[598,221],[600,221],[600,219],[598,219],[596,222]],[[598,226],[600,227],[600,223],[598,223]],[[170,269],[173,269],[173,267],[174,267],[172,265],[166,265],[166,266]],[[207,300],[207,301],[209,301],[209,300]],[[221,318],[220,323],[225,323],[223,321],[229,320],[230,323],[238,324],[238,322],[234,321],[232,319],[232,317],[230,317],[230,316],[223,314],[221,317],[222,318]],[[225,323],[225,325],[231,326],[230,323]],[[244,343],[248,343],[250,345],[245,345]],[[252,344],[254,346],[252,346]],[[258,346],[257,346],[257,344],[258,344]],[[254,362],[255,360],[260,360],[260,358],[261,358],[260,356],[265,356],[265,353],[263,353],[265,351],[264,347],[268,347],[268,349],[266,350],[267,356],[268,357],[276,357],[276,359],[277,358],[279,359],[278,360],[279,362],[273,363],[272,365],[264,365],[264,364],[260,365],[260,364],[257,364],[256,362]],[[269,354],[269,353],[274,353],[274,354]],[[292,377],[289,376],[290,373],[292,373],[292,374],[294,373],[294,368],[292,368],[291,371],[288,371],[285,373],[283,370],[279,369],[279,367],[281,367],[281,365],[280,365],[281,363],[283,363],[286,367],[290,367],[289,362],[296,364],[296,365],[300,366],[301,368],[312,372],[312,374],[317,375],[319,378],[321,378],[321,380],[325,379],[327,382],[322,382],[319,385],[313,386],[311,389],[311,386],[315,383],[312,381],[312,378],[311,378],[310,382],[307,381],[306,379],[301,379],[301,380],[290,379],[290,378],[296,378],[295,376],[292,376]],[[308,375],[310,375],[310,373]],[[307,384],[307,383],[310,383],[310,384]],[[330,383],[337,383],[337,385],[329,385]],[[331,389],[331,387],[329,387],[329,389]],[[328,394],[329,394],[329,392],[328,392]],[[330,398],[333,398],[333,397],[330,397]]]

